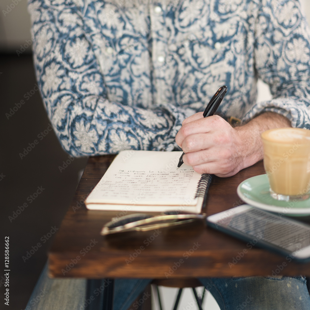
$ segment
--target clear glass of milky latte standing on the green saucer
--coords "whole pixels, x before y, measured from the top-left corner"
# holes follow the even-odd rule
[[[278,128],[261,135],[264,168],[274,199],[308,199],[310,189],[310,130]]]

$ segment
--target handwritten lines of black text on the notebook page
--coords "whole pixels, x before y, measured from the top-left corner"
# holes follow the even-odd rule
[[[143,203],[152,199],[169,201],[188,198],[187,185],[191,181],[194,170],[179,171],[139,171],[119,170],[113,175],[114,180],[106,181],[104,191],[109,198],[130,200],[131,204]]]

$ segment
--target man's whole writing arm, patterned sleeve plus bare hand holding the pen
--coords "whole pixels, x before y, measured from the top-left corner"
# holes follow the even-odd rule
[[[255,69],[270,85],[272,100],[254,104],[242,119],[245,125],[235,128],[218,116],[188,117],[176,135],[177,144],[189,152],[184,162],[200,173],[231,176],[263,158],[261,132],[310,129],[309,42],[298,1],[274,7],[262,0],[255,22]]]

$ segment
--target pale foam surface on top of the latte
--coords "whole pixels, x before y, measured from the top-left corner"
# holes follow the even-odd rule
[[[310,130],[301,128],[279,128],[263,132],[263,139],[275,142],[293,142],[296,140],[305,140],[310,142]]]

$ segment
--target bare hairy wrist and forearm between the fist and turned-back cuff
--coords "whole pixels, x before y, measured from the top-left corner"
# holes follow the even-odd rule
[[[291,127],[290,121],[272,112],[262,113],[245,125],[235,127],[239,138],[239,152],[244,157],[240,168],[246,168],[263,159],[263,144],[260,138],[263,131],[283,127]]]

